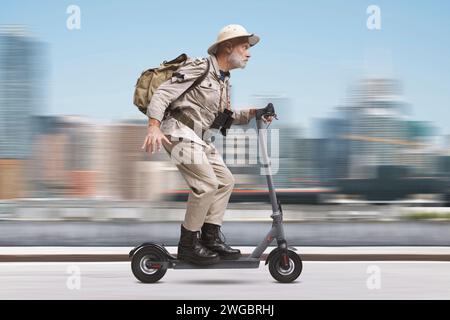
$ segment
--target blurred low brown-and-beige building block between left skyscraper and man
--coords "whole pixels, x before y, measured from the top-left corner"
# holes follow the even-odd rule
[[[99,125],[80,117],[36,117],[36,197],[160,200],[181,176],[163,152],[141,150],[146,121]]]

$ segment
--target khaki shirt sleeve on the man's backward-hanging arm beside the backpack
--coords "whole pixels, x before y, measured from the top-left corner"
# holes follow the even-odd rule
[[[158,87],[147,108],[147,116],[161,122],[167,107],[182,96],[206,68],[205,59],[188,60],[177,70],[176,76]]]

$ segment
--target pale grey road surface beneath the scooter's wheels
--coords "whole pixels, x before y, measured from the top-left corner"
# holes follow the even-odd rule
[[[266,266],[168,270],[143,284],[127,262],[0,263],[0,299],[450,299],[449,262],[304,262],[280,284]]]

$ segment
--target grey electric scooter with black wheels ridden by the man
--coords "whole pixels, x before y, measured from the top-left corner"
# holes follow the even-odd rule
[[[266,135],[259,134],[260,130],[263,128],[262,117],[265,116],[276,117],[275,109],[271,103],[269,103],[267,107],[259,109],[256,112],[258,143],[260,155],[263,158],[262,167],[267,170],[267,185],[273,211],[270,216],[273,220],[272,228],[261,243],[255,248],[250,256],[244,256],[237,260],[220,260],[218,263],[204,266],[178,260],[177,257],[171,255],[163,245],[147,242],[137,246],[129,253],[129,257],[131,258],[131,270],[139,281],[144,283],[157,282],[166,274],[168,268],[173,268],[175,270],[259,268],[264,251],[274,239],[277,242],[277,247],[269,253],[265,261],[265,264],[269,265],[269,272],[272,277],[279,282],[289,283],[300,276],[303,268],[302,260],[295,252],[295,248],[288,247],[284,235],[283,211],[281,203],[277,199],[270,172]]]

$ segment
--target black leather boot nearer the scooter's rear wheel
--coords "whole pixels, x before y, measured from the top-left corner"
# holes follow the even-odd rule
[[[220,261],[220,257],[216,252],[203,246],[200,241],[200,231],[190,231],[183,225],[181,225],[177,257],[179,260],[199,265],[208,265]]]

